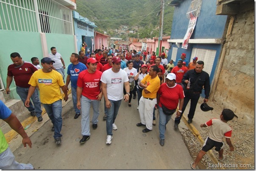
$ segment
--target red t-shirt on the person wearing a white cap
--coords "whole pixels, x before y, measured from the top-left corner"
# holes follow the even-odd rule
[[[173,88],[169,88],[166,83],[162,83],[157,94],[161,95],[159,99],[159,106],[162,107],[163,104],[170,110],[176,109],[179,99],[184,99],[185,97],[183,88],[178,84]]]

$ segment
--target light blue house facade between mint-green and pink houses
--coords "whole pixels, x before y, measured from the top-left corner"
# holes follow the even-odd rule
[[[86,50],[94,52],[94,28],[97,27],[94,22],[89,21],[86,17],[82,17],[78,12],[73,11],[74,32],[77,42],[77,52],[81,50],[83,42],[86,42]]]

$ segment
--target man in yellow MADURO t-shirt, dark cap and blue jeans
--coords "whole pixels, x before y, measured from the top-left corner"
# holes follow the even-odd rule
[[[25,106],[29,107],[30,97],[36,89],[40,90],[40,99],[53,123],[54,139],[56,144],[61,143],[61,127],[62,127],[62,104],[61,104],[61,90],[65,94],[64,100],[67,102],[67,88],[64,84],[61,74],[53,70],[53,61],[51,58],[45,57],[41,60],[42,69],[34,72],[28,84],[31,86],[28,90],[28,97],[25,101]]]

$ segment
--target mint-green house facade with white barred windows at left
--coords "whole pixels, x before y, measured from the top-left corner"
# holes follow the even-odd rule
[[[0,90],[6,88],[7,68],[12,63],[10,54],[18,52],[22,60],[32,57],[41,60],[56,47],[65,64],[76,51],[72,10],[75,0],[0,1]],[[65,70],[66,72],[66,70]],[[11,98],[20,99],[14,81],[10,85]],[[1,98],[4,100],[4,98]]]

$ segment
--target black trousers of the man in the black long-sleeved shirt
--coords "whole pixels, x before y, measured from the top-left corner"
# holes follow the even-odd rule
[[[200,94],[194,94],[192,91],[184,91],[185,97],[184,97],[184,105],[182,108],[182,113],[181,116],[183,115],[185,109],[186,109],[186,105],[189,103],[190,100],[190,109],[189,109],[189,114],[188,114],[188,118],[189,119],[193,119],[194,115],[195,115],[195,108],[196,105],[198,104],[198,99],[200,97]],[[175,118],[175,123],[180,123],[181,122],[181,116],[178,118]]]

